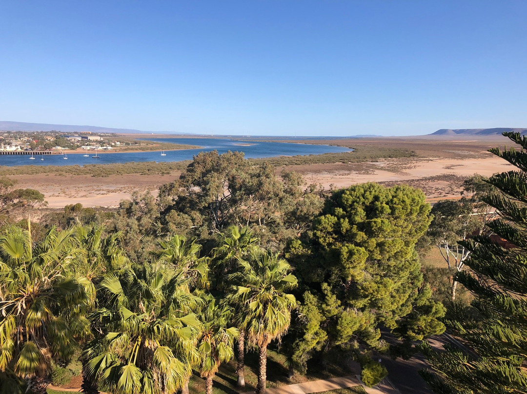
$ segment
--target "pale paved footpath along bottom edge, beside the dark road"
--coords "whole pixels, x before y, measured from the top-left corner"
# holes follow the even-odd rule
[[[366,387],[362,385],[357,376],[344,376],[341,378],[321,379],[313,380],[310,382],[297,383],[296,385],[287,385],[269,388],[266,390],[267,394],[309,394],[313,392],[329,391],[336,389],[344,389],[348,387],[363,386],[364,390],[368,394],[397,394],[398,391],[394,390],[387,384],[379,385],[378,388]],[[254,391],[249,391],[245,394],[254,394]]]

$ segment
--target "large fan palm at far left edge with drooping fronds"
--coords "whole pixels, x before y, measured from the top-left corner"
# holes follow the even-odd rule
[[[0,371],[34,394],[46,392],[52,361],[91,336],[86,280],[71,274],[85,257],[72,234],[52,228],[33,244],[28,221],[27,231],[8,226],[0,235]]]

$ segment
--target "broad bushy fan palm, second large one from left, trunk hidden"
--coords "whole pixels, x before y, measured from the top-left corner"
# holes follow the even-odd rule
[[[183,388],[199,355],[200,299],[181,269],[154,262],[104,276],[94,320],[105,333],[89,343],[89,372],[114,394],[168,394]]]

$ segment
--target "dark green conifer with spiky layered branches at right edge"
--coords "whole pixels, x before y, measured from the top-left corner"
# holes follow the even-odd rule
[[[490,152],[518,170],[490,178],[497,191],[485,201],[500,218],[487,223],[483,235],[463,243],[471,251],[470,270],[456,275],[474,294],[478,313],[449,325],[470,349],[437,352],[422,346],[433,369],[422,375],[438,393],[527,393],[527,138],[503,135],[520,148]]]

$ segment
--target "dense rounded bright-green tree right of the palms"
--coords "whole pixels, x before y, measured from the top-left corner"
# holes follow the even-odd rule
[[[429,213],[424,194],[407,186],[368,183],[330,196],[288,253],[305,301],[287,338],[297,368],[323,346],[382,348],[380,325],[408,340],[444,331],[415,251]]]

